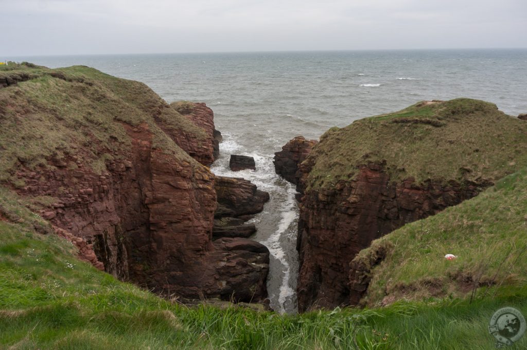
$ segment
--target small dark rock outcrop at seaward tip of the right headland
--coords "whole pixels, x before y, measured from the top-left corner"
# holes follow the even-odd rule
[[[297,184],[297,191],[302,174],[298,172],[300,163],[306,160],[311,149],[316,145],[316,140],[306,140],[303,136],[297,136],[287,142],[280,152],[275,153],[275,171],[287,181]]]

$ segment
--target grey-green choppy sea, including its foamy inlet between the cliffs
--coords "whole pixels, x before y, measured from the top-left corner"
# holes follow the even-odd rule
[[[212,171],[243,177],[271,200],[253,221],[253,239],[271,252],[268,290],[278,312],[295,312],[298,209],[294,187],[272,157],[295,135],[457,97],[527,113],[527,50],[404,50],[0,57],[48,67],[83,64],[148,84],[168,102],[206,102],[223,134]],[[229,155],[255,157],[256,171],[232,172]]]

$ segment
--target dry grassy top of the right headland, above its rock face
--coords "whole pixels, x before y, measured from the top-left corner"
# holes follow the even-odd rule
[[[327,131],[309,156],[315,166],[307,185],[353,179],[357,166],[368,162],[386,162],[392,180],[493,181],[527,164],[526,146],[527,123],[492,103],[420,102]]]

